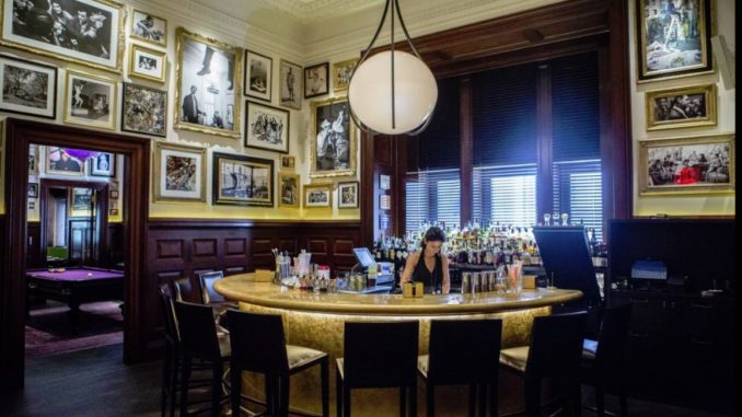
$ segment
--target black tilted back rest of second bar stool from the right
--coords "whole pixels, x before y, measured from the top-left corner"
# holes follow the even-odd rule
[[[535,317],[526,379],[579,379],[587,320],[586,311]]]

